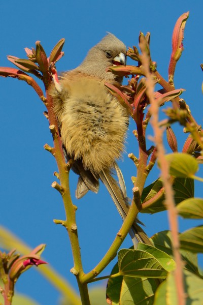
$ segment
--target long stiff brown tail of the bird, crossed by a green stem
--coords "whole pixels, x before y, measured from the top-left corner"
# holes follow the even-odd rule
[[[122,219],[124,220],[127,216],[129,210],[128,198],[126,196],[125,184],[123,180],[122,173],[118,166],[116,165],[116,172],[119,178],[119,184],[121,188],[119,188],[117,181],[112,177],[109,170],[103,170],[99,173],[99,178],[106,186],[108,192],[110,193],[117,210],[119,211]],[[148,236],[144,232],[144,230],[138,225],[138,220],[136,219],[131,227],[129,232],[133,245],[137,247],[138,242],[147,243],[148,245],[152,245]]]

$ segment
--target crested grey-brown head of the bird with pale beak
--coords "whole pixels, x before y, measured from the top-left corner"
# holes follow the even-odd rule
[[[111,66],[126,64],[126,47],[116,36],[108,33],[99,43],[91,48],[83,63],[77,68],[81,72],[105,81],[122,81],[112,72],[107,72]]]

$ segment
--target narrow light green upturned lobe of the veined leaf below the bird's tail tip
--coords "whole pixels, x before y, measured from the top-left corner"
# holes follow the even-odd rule
[[[160,265],[167,271],[172,271],[176,268],[176,263],[173,258],[155,247],[139,242],[138,250],[142,250],[153,255],[153,257],[156,258]]]

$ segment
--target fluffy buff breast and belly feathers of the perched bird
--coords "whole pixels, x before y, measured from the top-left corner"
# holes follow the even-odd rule
[[[64,90],[65,81],[61,85]],[[66,150],[75,160],[82,159],[86,169],[113,167],[124,149],[126,109],[102,81],[84,77],[69,81],[68,88],[59,122]]]

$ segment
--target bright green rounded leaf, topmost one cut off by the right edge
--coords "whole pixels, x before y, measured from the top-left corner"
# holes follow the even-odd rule
[[[188,198],[177,206],[178,214],[183,218],[203,218],[203,199]]]

